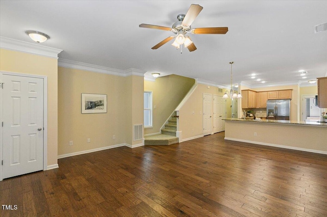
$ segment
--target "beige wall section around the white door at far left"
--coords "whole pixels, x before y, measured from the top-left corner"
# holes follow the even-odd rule
[[[48,77],[48,166],[57,164],[58,153],[58,60],[0,49],[0,70]]]

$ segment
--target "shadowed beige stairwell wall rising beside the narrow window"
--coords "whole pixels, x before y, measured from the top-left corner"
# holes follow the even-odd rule
[[[144,90],[153,93],[153,127],[145,128],[145,134],[159,133],[160,128],[174,112],[186,93],[195,84],[193,78],[179,75],[158,77],[155,82],[144,81]]]

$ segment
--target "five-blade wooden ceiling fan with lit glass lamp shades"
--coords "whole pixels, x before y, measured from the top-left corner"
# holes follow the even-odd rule
[[[186,34],[226,34],[228,31],[228,27],[209,27],[209,28],[191,28],[191,24],[198,16],[198,14],[203,9],[200,5],[192,4],[186,14],[178,14],[177,19],[178,21],[175,22],[172,28],[160,25],[151,25],[151,24],[139,24],[139,27],[142,28],[149,28],[149,29],[157,29],[157,30],[165,30],[171,31],[175,35],[169,36],[168,38],[162,40],[158,44],[154,45],[151,49],[158,49],[162,45],[166,44],[173,38],[175,41],[172,43],[174,47],[177,49],[180,45],[184,44],[184,47],[187,47],[190,52],[196,50],[196,46],[194,45],[193,41],[191,40],[190,36]]]

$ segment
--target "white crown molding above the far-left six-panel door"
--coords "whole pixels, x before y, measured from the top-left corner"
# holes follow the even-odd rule
[[[0,47],[7,50],[31,53],[43,57],[58,59],[58,54],[62,51],[53,47],[46,47],[39,44],[34,44],[16,39],[0,37]]]

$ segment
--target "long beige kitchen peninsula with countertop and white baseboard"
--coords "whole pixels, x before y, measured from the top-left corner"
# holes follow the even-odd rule
[[[327,123],[227,118],[225,140],[327,154]]]

